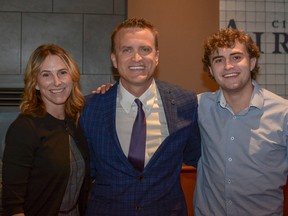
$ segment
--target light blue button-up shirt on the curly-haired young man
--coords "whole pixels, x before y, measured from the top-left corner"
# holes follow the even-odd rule
[[[195,215],[283,214],[288,173],[287,100],[253,81],[250,106],[234,114],[221,90],[199,99],[202,156]]]

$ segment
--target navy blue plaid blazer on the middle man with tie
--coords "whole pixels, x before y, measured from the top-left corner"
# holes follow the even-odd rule
[[[197,97],[163,81],[156,80],[156,85],[169,136],[143,172],[129,163],[117,137],[118,83],[105,94],[87,97],[80,124],[88,141],[91,173],[95,178],[87,215],[187,215],[180,172],[183,162],[196,166],[201,153]]]

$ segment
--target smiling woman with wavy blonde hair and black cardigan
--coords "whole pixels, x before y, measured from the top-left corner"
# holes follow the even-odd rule
[[[20,115],[6,134],[6,215],[84,215],[88,147],[78,118],[84,105],[80,72],[57,45],[42,45],[25,72]]]

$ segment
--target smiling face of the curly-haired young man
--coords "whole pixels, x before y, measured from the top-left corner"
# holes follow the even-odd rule
[[[256,59],[250,59],[244,44],[236,41],[233,48],[218,48],[210,56],[210,63],[210,73],[224,92],[241,92],[251,87],[250,71]]]

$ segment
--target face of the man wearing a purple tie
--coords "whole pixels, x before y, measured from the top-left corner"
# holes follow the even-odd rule
[[[124,28],[116,34],[112,63],[123,86],[135,96],[150,86],[158,57],[155,38],[149,29]]]

